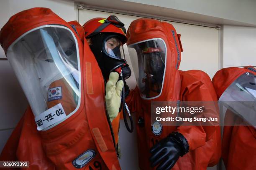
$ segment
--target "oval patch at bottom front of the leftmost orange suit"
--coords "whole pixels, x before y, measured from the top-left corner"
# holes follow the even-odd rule
[[[95,155],[95,150],[89,149],[74,159],[72,163],[75,168],[83,168],[95,157]]]

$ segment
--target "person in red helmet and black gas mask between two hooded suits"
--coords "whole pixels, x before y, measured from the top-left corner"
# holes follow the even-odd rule
[[[118,72],[120,75],[118,78],[120,80],[123,79],[124,95],[121,94],[121,96],[123,98],[122,101],[124,101],[125,96],[127,96],[129,93],[129,87],[126,85],[125,80],[131,75],[131,70],[129,65],[126,63],[123,50],[123,45],[127,41],[124,24],[115,15],[110,15],[108,18],[92,18],[91,20],[88,20],[86,23],[84,23],[83,28],[85,32],[85,38],[98,62],[105,82],[108,81],[110,72]],[[108,98],[107,92],[106,97]],[[114,103],[112,105],[114,105]],[[114,109],[115,106],[110,106],[109,108],[112,109],[110,109],[110,112],[108,112],[110,115],[117,147],[120,114],[126,113],[126,111],[124,111],[126,107],[123,105],[123,102],[121,107],[122,109],[119,110],[120,112],[112,112],[112,109]],[[125,118],[126,116],[124,116],[124,120],[126,120]],[[128,131],[133,131],[129,127],[127,128]],[[120,155],[120,153],[118,155]]]

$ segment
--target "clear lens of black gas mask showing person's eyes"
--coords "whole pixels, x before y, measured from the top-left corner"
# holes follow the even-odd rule
[[[118,37],[107,37],[104,41],[106,55],[116,58],[125,59],[123,52],[123,43]]]

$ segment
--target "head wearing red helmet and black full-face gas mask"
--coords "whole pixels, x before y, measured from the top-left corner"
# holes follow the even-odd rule
[[[131,76],[131,69],[126,63],[123,44],[125,37],[124,24],[114,15],[107,19],[94,18],[84,24],[85,37],[91,39],[93,54],[100,66],[105,81],[110,72],[122,71],[123,79]]]

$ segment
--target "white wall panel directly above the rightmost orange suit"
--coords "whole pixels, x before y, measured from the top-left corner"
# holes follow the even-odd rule
[[[223,67],[256,66],[256,28],[223,25]]]

